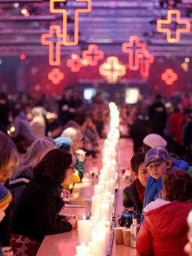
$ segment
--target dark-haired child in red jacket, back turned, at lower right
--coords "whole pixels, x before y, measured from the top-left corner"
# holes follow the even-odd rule
[[[185,170],[170,170],[163,176],[163,199],[148,204],[136,249],[141,255],[184,256],[187,216],[192,210],[192,177]]]

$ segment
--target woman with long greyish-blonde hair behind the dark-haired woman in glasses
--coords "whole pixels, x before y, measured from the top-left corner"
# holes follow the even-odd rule
[[[33,168],[37,166],[47,152],[54,148],[56,148],[56,142],[49,137],[38,138],[28,148],[26,155],[22,158],[19,167],[15,170],[9,183],[10,192],[13,196],[11,203],[13,208],[17,204],[29,180],[34,177]]]

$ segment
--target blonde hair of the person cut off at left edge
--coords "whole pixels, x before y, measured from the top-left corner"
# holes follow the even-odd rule
[[[0,172],[18,166],[19,155],[11,138],[0,131]]]

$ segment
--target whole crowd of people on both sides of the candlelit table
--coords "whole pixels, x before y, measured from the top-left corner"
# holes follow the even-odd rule
[[[143,98],[120,109],[121,135],[133,139],[135,180],[124,188],[122,203],[141,213],[137,251],[192,255],[190,95],[174,95],[169,104],[156,95],[154,102]],[[81,182],[86,157],[100,153],[109,104],[101,93],[85,103],[71,88],[57,100],[2,92],[0,111],[0,255],[25,255],[27,243],[33,253],[25,253],[33,256],[46,235],[77,228],[77,217],[58,212]]]

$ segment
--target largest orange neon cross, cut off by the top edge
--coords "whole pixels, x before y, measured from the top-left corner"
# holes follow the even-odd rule
[[[70,0],[76,6],[82,2],[87,3],[87,8],[74,9],[74,38],[69,41],[68,38],[68,12],[67,9],[55,8],[55,3],[63,3],[67,0],[50,0],[50,12],[63,14],[63,45],[78,45],[79,43],[79,13],[90,13],[92,9],[91,0]],[[80,3],[78,3],[80,2]]]

